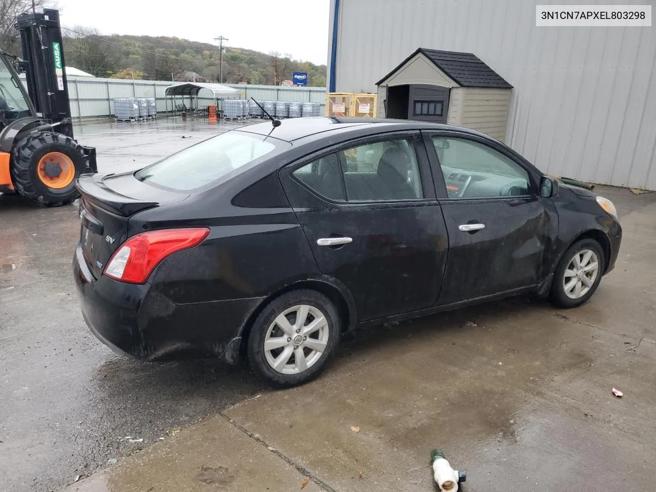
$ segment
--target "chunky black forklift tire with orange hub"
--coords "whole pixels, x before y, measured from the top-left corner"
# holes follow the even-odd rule
[[[87,169],[82,146],[62,133],[29,134],[14,146],[11,177],[16,191],[46,207],[79,197],[75,180]]]

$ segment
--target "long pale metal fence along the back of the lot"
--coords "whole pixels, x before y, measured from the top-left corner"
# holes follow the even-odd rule
[[[165,95],[172,82],[152,80],[100,79],[96,77],[68,77],[68,97],[74,119],[108,117],[113,114],[113,98],[154,97],[157,112],[172,111],[173,99]],[[321,114],[325,114],[326,90],[324,87],[278,87],[275,85],[233,85],[241,89],[241,98],[254,97],[258,100],[318,102]],[[203,94],[207,92],[207,94]],[[206,89],[199,94],[198,106],[213,104],[214,100]],[[206,97],[203,97],[206,96]],[[178,104],[191,106],[189,97],[176,97]]]

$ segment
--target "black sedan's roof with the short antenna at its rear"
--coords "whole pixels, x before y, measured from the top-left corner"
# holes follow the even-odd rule
[[[300,138],[312,136],[318,133],[326,133],[332,131],[340,131],[343,133],[345,129],[363,129],[363,127],[371,127],[373,133],[377,130],[412,130],[412,129],[432,129],[432,130],[455,130],[464,131],[466,133],[479,134],[476,131],[464,129],[462,127],[454,127],[453,125],[441,125],[439,123],[430,123],[426,121],[411,121],[407,119],[386,119],[386,118],[367,118],[367,117],[305,117],[305,118],[290,118],[283,119],[281,125],[274,128],[270,121],[262,123],[255,123],[241,127],[238,131],[257,133],[260,135],[273,136],[279,140],[293,142]]]

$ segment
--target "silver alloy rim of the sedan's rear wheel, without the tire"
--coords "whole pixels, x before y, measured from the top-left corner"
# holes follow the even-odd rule
[[[308,304],[293,306],[276,316],[266,331],[264,356],[274,371],[302,373],[321,358],[329,337],[321,310]]]

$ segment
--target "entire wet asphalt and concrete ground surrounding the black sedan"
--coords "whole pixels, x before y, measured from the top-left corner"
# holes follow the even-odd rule
[[[98,149],[99,171],[116,172],[226,128],[159,121],[75,131]],[[198,447],[203,432],[222,443],[227,419],[319,489],[429,490],[436,446],[466,464],[466,490],[647,489],[656,458],[656,194],[603,194],[623,215],[625,239],[586,306],[561,312],[518,298],[357,333],[325,377],[282,392],[219,361],[115,356],[79,314],[70,274],[77,206],[0,195],[0,490],[49,491],[107,466],[113,490],[167,490],[155,482],[175,470],[172,455],[194,453],[185,436]],[[200,429],[199,419],[208,422]],[[136,457],[150,475],[130,472]],[[144,476],[155,482],[145,486]],[[195,490],[190,483],[176,490]]]

